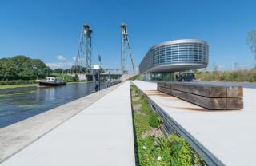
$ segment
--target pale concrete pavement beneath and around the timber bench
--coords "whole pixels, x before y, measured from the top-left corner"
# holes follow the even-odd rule
[[[158,92],[156,83],[133,82],[211,165],[255,165],[256,89],[244,89],[244,109],[209,111]]]

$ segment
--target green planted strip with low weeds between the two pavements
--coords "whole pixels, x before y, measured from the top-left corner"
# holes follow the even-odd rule
[[[150,110],[146,97],[135,86],[131,86],[131,95],[137,165],[203,165],[186,140],[163,134],[160,117]]]

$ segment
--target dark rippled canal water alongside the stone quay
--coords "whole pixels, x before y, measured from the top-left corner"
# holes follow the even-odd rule
[[[101,89],[106,88],[105,84]],[[92,83],[0,89],[0,128],[93,93]]]

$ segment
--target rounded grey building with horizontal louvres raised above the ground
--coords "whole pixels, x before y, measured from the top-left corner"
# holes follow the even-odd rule
[[[139,65],[139,72],[178,72],[205,68],[208,65],[208,56],[206,41],[166,41],[150,48]]]

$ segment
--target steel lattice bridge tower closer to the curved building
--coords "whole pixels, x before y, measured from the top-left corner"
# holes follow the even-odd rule
[[[130,50],[130,41],[128,38],[128,32],[126,24],[121,24],[121,69],[122,74],[126,73],[126,52],[129,51],[130,54],[130,61],[133,67],[133,72],[135,73],[134,69],[134,58]]]

